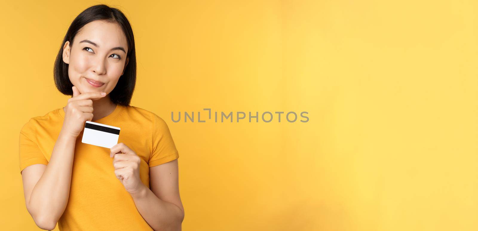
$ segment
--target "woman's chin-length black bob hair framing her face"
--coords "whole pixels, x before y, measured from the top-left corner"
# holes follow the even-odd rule
[[[128,64],[126,65],[123,75],[120,76],[115,88],[109,94],[113,103],[128,106],[130,105],[134,86],[136,84],[136,52],[134,48],[133,30],[131,29],[130,22],[120,10],[109,7],[105,4],[91,6],[86,10],[83,10],[83,12],[76,16],[75,20],[73,20],[68,28],[65,38],[60,46],[60,51],[56,56],[53,68],[56,88],[62,94],[73,95],[73,90],[71,89],[73,84],[68,77],[68,64],[63,62],[63,46],[66,41],[70,41],[71,47],[76,33],[87,23],[96,20],[118,23],[128,41],[128,53],[126,54],[126,57],[129,57]]]

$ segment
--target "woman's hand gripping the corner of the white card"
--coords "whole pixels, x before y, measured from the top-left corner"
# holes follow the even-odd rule
[[[141,158],[123,143],[111,147],[109,157],[113,157],[115,175],[126,191],[136,194],[145,186],[140,179]]]

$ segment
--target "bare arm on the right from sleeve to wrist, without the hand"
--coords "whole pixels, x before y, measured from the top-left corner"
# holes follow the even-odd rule
[[[141,216],[155,231],[181,231],[184,208],[179,197],[178,160],[150,168],[150,188],[130,193]]]

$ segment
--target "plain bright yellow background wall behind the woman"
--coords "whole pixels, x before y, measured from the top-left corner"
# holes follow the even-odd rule
[[[54,59],[97,3],[132,24],[131,105],[170,126],[183,230],[478,229],[478,4],[431,0],[2,2],[1,229],[38,229],[18,135],[66,104]],[[171,121],[203,108],[310,120]]]

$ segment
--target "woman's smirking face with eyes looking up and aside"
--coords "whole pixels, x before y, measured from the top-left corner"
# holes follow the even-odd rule
[[[92,21],[76,34],[73,45],[65,42],[63,61],[68,63],[68,76],[81,94],[109,94],[123,74],[128,58],[128,42],[117,23]]]

